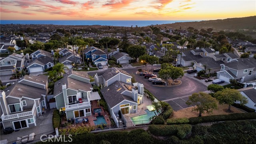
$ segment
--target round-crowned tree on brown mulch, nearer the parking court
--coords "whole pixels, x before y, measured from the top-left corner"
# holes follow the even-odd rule
[[[192,111],[198,111],[199,117],[202,116],[202,113],[212,113],[214,109],[218,109],[216,99],[204,92],[193,93],[188,97],[186,104],[193,105]]]

